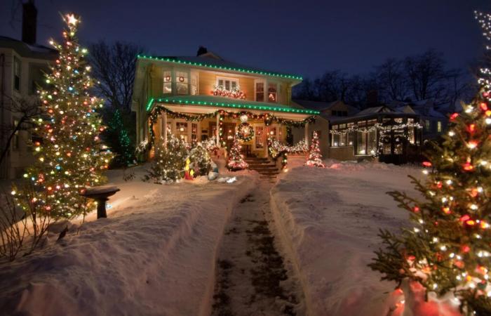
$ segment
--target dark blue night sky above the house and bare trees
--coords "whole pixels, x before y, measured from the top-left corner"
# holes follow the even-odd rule
[[[20,0],[0,1],[0,34],[20,39]],[[13,7],[17,6],[11,22]],[[82,16],[83,44],[140,44],[154,55],[195,55],[199,45],[224,59],[304,77],[324,70],[372,70],[387,57],[442,51],[450,67],[482,54],[473,10],[485,0],[116,1],[37,0],[38,42],[58,37],[59,12]]]

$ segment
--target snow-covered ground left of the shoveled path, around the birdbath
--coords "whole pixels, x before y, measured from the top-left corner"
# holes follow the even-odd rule
[[[2,315],[207,315],[217,244],[231,208],[257,183],[123,182],[109,218],[0,268]],[[221,175],[223,176],[223,175]]]

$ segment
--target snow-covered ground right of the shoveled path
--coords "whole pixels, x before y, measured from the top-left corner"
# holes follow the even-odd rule
[[[289,160],[289,163],[292,162]],[[291,167],[295,166],[297,167]],[[290,164],[271,190],[274,222],[300,276],[309,315],[387,315],[394,283],[367,264],[379,228],[407,225],[407,214],[385,192],[413,192],[415,167],[327,162],[326,169]]]

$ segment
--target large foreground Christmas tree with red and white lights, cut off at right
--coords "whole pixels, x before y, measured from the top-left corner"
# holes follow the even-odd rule
[[[490,15],[476,17],[490,41]],[[389,192],[414,228],[383,231],[386,248],[370,264],[382,279],[400,284],[408,277],[426,293],[454,294],[465,315],[491,315],[490,70],[480,74],[478,95],[450,116],[443,145],[426,153],[426,180],[411,177],[424,200]]]

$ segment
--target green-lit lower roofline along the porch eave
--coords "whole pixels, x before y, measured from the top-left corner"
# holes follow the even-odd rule
[[[147,104],[147,111],[152,108],[152,105],[156,102],[159,103],[169,103],[169,104],[182,104],[182,105],[201,105],[201,106],[211,106],[211,107],[229,107],[236,109],[245,109],[245,110],[267,110],[273,112],[287,112],[287,113],[295,113],[295,114],[311,114],[318,115],[320,112],[314,110],[300,110],[300,109],[292,109],[292,108],[283,108],[283,107],[268,107],[264,105],[253,105],[253,104],[241,104],[241,103],[225,103],[225,102],[212,102],[212,101],[188,101],[188,100],[180,100],[179,98],[152,98]]]

